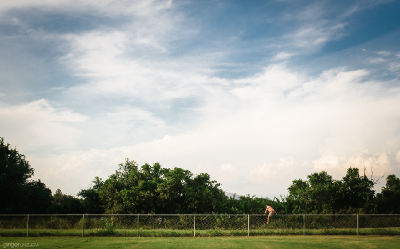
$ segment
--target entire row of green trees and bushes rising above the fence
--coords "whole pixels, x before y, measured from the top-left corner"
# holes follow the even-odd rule
[[[375,194],[377,181],[351,167],[340,180],[325,171],[295,179],[287,196],[272,199],[227,197],[207,173],[129,159],[77,196],[60,189],[53,194],[41,180],[30,180],[33,175],[26,157],[0,138],[0,214],[263,214],[266,203],[280,214],[400,213],[398,177],[389,174]]]

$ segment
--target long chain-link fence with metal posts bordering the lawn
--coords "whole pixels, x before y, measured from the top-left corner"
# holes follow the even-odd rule
[[[400,215],[0,215],[0,236],[400,235]]]

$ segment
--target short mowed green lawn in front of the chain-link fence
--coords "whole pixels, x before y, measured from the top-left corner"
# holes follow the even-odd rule
[[[254,237],[0,237],[31,248],[399,248],[400,236],[254,236]],[[26,244],[25,244],[26,246]],[[14,248],[25,247],[15,245]]]

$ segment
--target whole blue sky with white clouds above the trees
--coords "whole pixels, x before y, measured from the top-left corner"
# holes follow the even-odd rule
[[[400,176],[400,2],[2,0],[0,137],[53,192],[125,158],[273,198]]]

